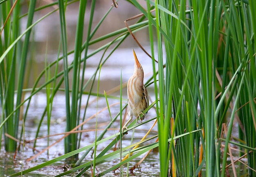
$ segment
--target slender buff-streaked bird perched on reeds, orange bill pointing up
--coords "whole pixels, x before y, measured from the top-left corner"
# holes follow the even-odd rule
[[[142,121],[147,114],[147,112],[144,114],[143,111],[148,107],[148,91],[143,84],[144,72],[133,49],[132,52],[135,60],[134,73],[127,83],[128,114],[130,119],[124,124],[122,132],[124,129],[127,130],[126,125],[132,120],[133,116],[136,117],[137,122],[138,120]],[[140,114],[143,114],[143,116],[139,117]]]

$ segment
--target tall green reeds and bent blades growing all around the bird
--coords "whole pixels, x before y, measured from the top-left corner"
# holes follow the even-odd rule
[[[87,103],[91,96],[97,96],[97,99],[104,97],[107,105],[108,99],[113,98],[106,93],[99,93],[99,87],[97,93],[92,92],[93,84],[89,83],[94,83],[106,60],[124,42],[124,39],[130,37],[130,33],[127,28],[123,28],[92,39],[97,30],[102,27],[102,22],[108,18],[109,12],[115,7],[110,7],[93,28],[96,1],[92,0],[88,3],[87,0],[81,0],[74,49],[68,51],[65,10],[76,1],[58,0],[37,8],[36,1],[29,1],[28,11],[25,14],[21,13],[20,1],[0,1],[2,31],[0,37],[0,136],[4,137],[5,150],[9,152],[16,150],[17,143],[5,133],[22,140],[23,131],[26,130],[19,126],[19,121],[20,119],[26,121],[31,98],[36,93],[45,92],[47,95],[47,106],[39,120],[36,137],[45,116],[48,125],[47,133],[50,134],[51,111],[57,91],[64,89],[65,92],[67,132],[83,129],[83,126],[80,126],[80,123],[85,120],[85,114],[80,114],[83,94],[88,95]],[[122,113],[127,104],[121,104],[124,98],[120,91],[117,99],[120,101],[120,112],[112,115],[108,105],[112,121],[101,133],[97,132],[96,126],[94,143],[80,148],[81,133],[66,134],[64,155],[13,176],[32,172],[63,159],[72,163],[73,168],[58,176],[81,170],[76,175],[80,176],[90,168],[93,169],[92,174],[96,175],[95,167],[98,164],[120,159],[115,166],[110,166],[98,174],[102,176],[148,150],[158,147],[161,177],[166,177],[168,174],[200,176],[203,165],[205,165],[206,176],[224,177],[227,173],[225,166],[229,163],[232,164],[231,168],[236,173],[234,164],[236,159],[230,157],[231,146],[235,145],[242,150],[241,156],[247,153],[248,175],[255,177],[256,171],[253,169],[256,169],[256,45],[254,44],[256,1],[156,0],[154,2],[146,0],[144,2],[146,9],[136,0],[128,0],[128,2],[143,14],[135,24],[129,26],[132,33],[144,28],[148,29],[151,49],[151,53],[148,53],[152,56],[153,74],[146,81],[146,87],[153,85],[155,101],[144,112],[154,107],[157,117],[146,120],[143,124],[156,119],[158,134],[131,143],[128,147],[111,151],[115,143],[121,140],[119,127],[115,127],[116,130],[112,136],[104,139],[103,136],[108,128],[114,126],[113,122],[117,118],[124,117]],[[119,5],[121,3],[122,1]],[[51,8],[52,11],[33,21],[36,11],[54,5],[58,8],[54,7],[54,10]],[[85,11],[89,11],[88,7],[90,7],[90,20],[83,41],[84,16]],[[150,11],[152,9],[155,11]],[[61,31],[58,58],[49,64],[45,62],[45,69],[37,76],[34,86],[27,88],[25,76],[29,74],[26,74],[28,72],[26,60],[32,38],[31,31],[37,23],[56,11],[59,13]],[[27,16],[26,29],[21,31],[20,19],[25,16]],[[22,39],[23,36],[24,39]],[[111,42],[88,52],[90,45],[105,39],[111,39]],[[157,51],[154,47],[157,47]],[[107,49],[110,50],[108,55]],[[89,81],[85,82],[86,60],[102,51],[103,55],[97,69]],[[68,63],[67,58],[71,54],[73,60],[72,63]],[[59,67],[60,62],[63,63],[63,67]],[[50,69],[54,69],[54,75],[50,74]],[[43,77],[45,77],[44,83],[39,84]],[[121,88],[120,86],[120,90]],[[85,92],[85,89],[89,92]],[[29,96],[23,99],[25,92],[29,93]],[[23,111],[24,103],[27,106]],[[86,110],[87,106],[85,112]],[[171,118],[174,119],[173,123]],[[135,123],[136,120],[130,123],[128,130],[141,125],[135,125]],[[173,128],[170,128],[171,126]],[[232,134],[237,127],[238,137],[234,137]],[[156,137],[159,139],[158,142],[144,143],[155,140]],[[92,148],[96,150],[99,144],[108,140],[111,140],[108,146],[98,155],[95,152],[92,161],[88,159],[84,161],[88,153],[92,152]],[[140,148],[131,150],[138,144],[141,145]],[[78,159],[78,153],[82,152],[81,158]],[[130,152],[133,154],[122,161],[122,158]],[[231,162],[227,162],[227,158],[231,159]]]

